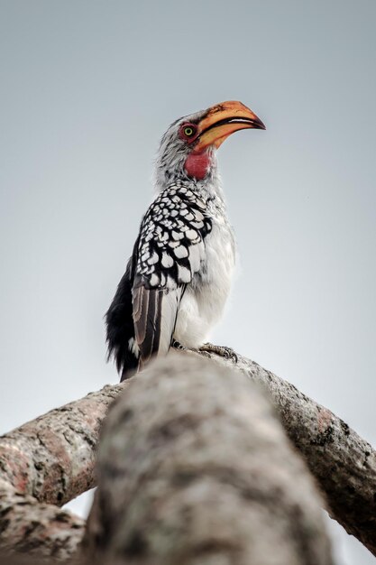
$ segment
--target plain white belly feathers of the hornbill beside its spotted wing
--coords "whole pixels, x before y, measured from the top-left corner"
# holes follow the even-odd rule
[[[185,347],[200,347],[221,318],[231,289],[235,264],[234,233],[225,221],[206,236],[206,259],[188,283],[179,304],[174,338]]]

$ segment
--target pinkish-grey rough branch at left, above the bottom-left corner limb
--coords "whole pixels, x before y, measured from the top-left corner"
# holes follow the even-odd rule
[[[95,486],[98,431],[122,387],[107,385],[2,436],[0,478],[39,502],[59,506]]]

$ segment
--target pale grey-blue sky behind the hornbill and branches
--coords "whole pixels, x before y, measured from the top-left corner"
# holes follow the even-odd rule
[[[1,431],[117,381],[102,317],[160,136],[240,99],[268,129],[218,153],[241,268],[213,339],[376,444],[375,18],[374,0],[0,2]],[[340,565],[374,563],[333,535]]]

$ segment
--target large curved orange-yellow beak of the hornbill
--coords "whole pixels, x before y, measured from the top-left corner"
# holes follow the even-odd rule
[[[239,129],[250,128],[266,129],[261,119],[242,102],[229,100],[216,104],[207,110],[206,116],[198,123],[198,137],[194,151],[201,153],[209,145],[217,149],[229,135]]]

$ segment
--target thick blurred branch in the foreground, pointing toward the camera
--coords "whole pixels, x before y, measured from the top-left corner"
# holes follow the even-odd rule
[[[205,359],[162,359],[105,421],[87,564],[329,565],[320,496],[266,398]]]

